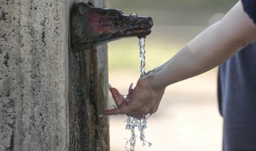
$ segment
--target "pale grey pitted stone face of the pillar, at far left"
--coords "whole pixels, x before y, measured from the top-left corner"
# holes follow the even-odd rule
[[[66,13],[58,1],[0,1],[0,144],[67,150]]]

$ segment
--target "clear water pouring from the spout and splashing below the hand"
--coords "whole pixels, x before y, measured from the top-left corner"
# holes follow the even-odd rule
[[[132,14],[131,14],[132,15]],[[152,72],[150,71],[148,73],[145,73],[145,39],[146,37],[139,37],[139,50],[140,50],[140,79],[148,77]],[[126,101],[129,101],[126,96]],[[142,146],[145,146],[146,143],[149,145],[149,147],[152,145],[152,143],[145,141],[145,132],[144,130],[146,129],[146,120],[150,117],[151,114],[145,115],[143,114],[142,119],[137,119],[135,117],[130,117],[128,116],[127,120],[125,121],[126,124],[126,130],[130,130],[131,132],[131,137],[129,140],[127,140],[125,148],[126,151],[134,151],[135,143],[136,143],[136,135],[135,135],[135,127],[137,127],[138,131],[140,132],[140,141],[142,142]],[[128,149],[128,143],[130,143],[130,149]]]

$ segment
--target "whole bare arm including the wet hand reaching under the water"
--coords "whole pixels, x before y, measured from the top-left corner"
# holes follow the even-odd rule
[[[201,32],[148,78],[139,80],[134,90],[129,90],[129,101],[125,101],[117,89],[110,88],[117,108],[104,114],[154,113],[166,86],[220,65],[254,41],[256,26],[239,1],[221,21]]]

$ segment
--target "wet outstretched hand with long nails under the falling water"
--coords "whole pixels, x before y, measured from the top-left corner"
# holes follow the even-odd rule
[[[143,114],[155,113],[165,89],[154,89],[150,77],[139,80],[134,89],[131,84],[126,98],[116,88],[109,86],[117,108],[107,109],[104,115],[127,114],[140,119]]]

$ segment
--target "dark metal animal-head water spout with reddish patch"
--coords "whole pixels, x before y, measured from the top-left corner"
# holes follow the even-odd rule
[[[71,12],[73,50],[85,50],[126,37],[151,33],[152,18],[133,13],[124,15],[117,9],[96,8],[91,3],[74,4]]]

